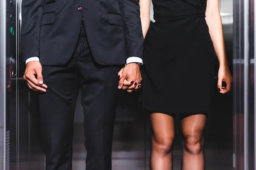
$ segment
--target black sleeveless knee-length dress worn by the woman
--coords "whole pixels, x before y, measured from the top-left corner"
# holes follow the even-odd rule
[[[145,37],[142,106],[157,113],[205,113],[214,91],[207,0],[153,0]]]

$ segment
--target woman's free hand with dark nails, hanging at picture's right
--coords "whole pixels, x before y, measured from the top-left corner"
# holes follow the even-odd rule
[[[222,87],[222,82],[226,82],[227,87]],[[225,94],[231,90],[232,76],[227,65],[219,67],[218,71],[218,91]]]

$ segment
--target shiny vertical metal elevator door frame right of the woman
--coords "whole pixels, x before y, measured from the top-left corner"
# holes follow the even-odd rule
[[[234,0],[234,170],[255,170],[255,0]]]

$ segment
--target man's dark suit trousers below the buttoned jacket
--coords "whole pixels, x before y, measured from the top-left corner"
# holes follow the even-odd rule
[[[102,66],[94,61],[84,27],[70,61],[60,66],[43,65],[48,88],[39,95],[39,109],[46,170],[72,170],[73,119],[79,88],[86,170],[111,170],[119,70],[120,66]]]

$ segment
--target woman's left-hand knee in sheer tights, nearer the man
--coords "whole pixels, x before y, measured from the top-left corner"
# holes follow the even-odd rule
[[[161,139],[156,139],[153,137],[152,140],[152,151],[157,152],[161,155],[168,155],[172,152],[174,142],[174,136],[163,137]]]

